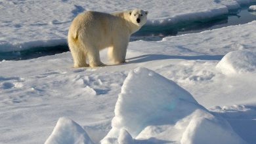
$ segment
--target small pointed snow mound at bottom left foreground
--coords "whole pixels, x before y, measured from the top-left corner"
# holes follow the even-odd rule
[[[93,144],[89,135],[83,130],[79,124],[69,118],[59,118],[45,144]]]

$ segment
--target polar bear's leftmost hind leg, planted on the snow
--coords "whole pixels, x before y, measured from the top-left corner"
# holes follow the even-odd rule
[[[86,56],[83,50],[80,48],[70,48],[70,51],[74,59],[74,68],[89,67],[89,65],[86,63]]]

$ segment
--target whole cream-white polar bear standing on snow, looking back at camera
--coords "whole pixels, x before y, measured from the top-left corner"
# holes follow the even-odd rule
[[[147,15],[147,11],[140,9],[112,14],[96,11],[78,14],[68,31],[74,67],[104,66],[99,53],[103,48],[109,48],[108,58],[114,63],[124,63],[129,38],[146,24]]]

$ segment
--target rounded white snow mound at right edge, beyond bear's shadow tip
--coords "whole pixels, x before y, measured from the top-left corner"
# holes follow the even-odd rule
[[[225,75],[253,72],[256,69],[256,52],[245,50],[228,52],[216,68]]]

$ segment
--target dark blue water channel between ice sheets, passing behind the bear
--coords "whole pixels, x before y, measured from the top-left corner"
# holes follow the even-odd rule
[[[185,33],[198,33],[209,29],[217,29],[220,27],[234,26],[238,24],[246,24],[253,20],[256,20],[256,12],[249,12],[248,6],[239,10],[231,10],[228,14],[223,16],[217,16],[215,18],[179,22],[174,25],[167,26],[144,26],[134,33],[131,37],[131,41],[144,40],[144,41],[160,41],[163,37],[182,35]],[[1,60],[28,60],[32,58],[39,58],[41,56],[49,56],[53,54],[59,54],[67,52],[68,46],[50,46],[32,48],[29,50],[23,50],[19,52],[0,52]]]

